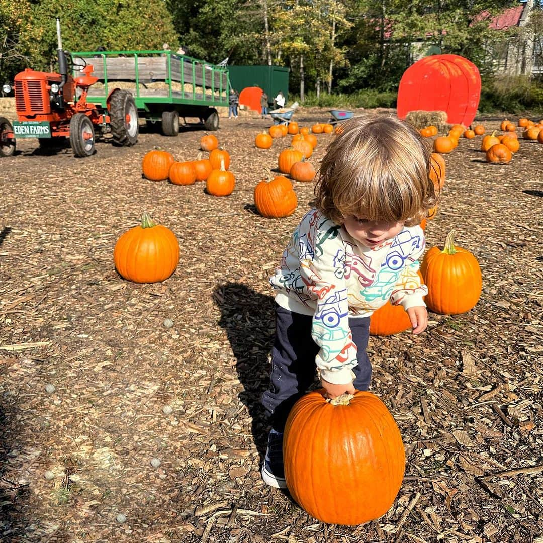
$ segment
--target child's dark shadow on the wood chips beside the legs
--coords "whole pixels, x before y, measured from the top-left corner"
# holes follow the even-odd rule
[[[267,421],[260,403],[268,388],[271,351],[275,334],[274,300],[242,283],[224,283],[213,292],[220,309],[219,325],[226,330],[243,391],[239,399],[249,409],[251,431],[263,458],[267,444]]]

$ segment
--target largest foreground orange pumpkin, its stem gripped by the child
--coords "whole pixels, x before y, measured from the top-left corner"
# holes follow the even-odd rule
[[[394,503],[405,469],[400,431],[384,403],[356,391],[327,401],[302,396],[283,436],[288,490],[315,519],[355,526]]]

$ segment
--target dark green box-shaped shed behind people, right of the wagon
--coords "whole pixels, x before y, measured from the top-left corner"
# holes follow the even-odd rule
[[[288,68],[283,66],[229,66],[230,85],[241,92],[245,87],[260,87],[271,104],[279,91],[288,96]]]

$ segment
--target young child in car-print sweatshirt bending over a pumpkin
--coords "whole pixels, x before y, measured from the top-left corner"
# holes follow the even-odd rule
[[[326,150],[308,211],[270,277],[276,335],[262,403],[272,427],[262,478],[285,488],[282,439],[294,402],[320,372],[325,396],[367,390],[370,315],[388,300],[426,329],[419,224],[437,201],[419,132],[392,116],[354,117]],[[316,368],[315,368],[316,366]]]

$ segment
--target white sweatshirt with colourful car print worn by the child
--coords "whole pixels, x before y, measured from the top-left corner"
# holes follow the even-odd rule
[[[281,307],[313,315],[311,335],[320,347],[315,363],[326,381],[353,378],[357,359],[349,317],[369,317],[389,299],[406,310],[426,305],[428,289],[417,273],[424,247],[420,226],[405,226],[367,248],[320,211],[301,219],[270,283]]]

